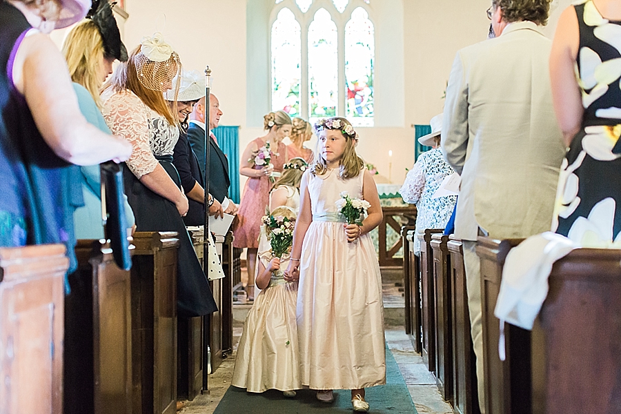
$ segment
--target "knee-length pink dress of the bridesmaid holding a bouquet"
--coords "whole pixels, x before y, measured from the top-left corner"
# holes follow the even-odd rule
[[[257,138],[253,142],[257,145],[257,148],[264,146],[261,138]],[[278,155],[273,155],[270,162],[274,165],[275,171],[282,172],[287,157],[286,145],[281,142],[277,150],[274,148],[271,148],[271,150]],[[260,166],[255,166],[255,168],[257,170],[261,169]],[[233,230],[235,235],[233,246],[237,248],[259,247],[259,232],[262,226],[261,217],[265,215],[265,208],[270,200],[272,184],[267,176],[248,178],[246,181],[246,186],[244,186],[244,192],[242,193],[242,201],[239,203],[239,210],[237,211],[237,226]]]

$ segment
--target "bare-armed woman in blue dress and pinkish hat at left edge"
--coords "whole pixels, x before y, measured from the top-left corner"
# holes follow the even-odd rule
[[[47,36],[89,8],[90,0],[0,1],[0,246],[65,243],[72,268],[82,194],[69,163],[125,161],[132,150],[83,117]]]

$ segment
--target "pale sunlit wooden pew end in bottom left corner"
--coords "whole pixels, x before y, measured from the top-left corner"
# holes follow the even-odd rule
[[[0,248],[0,412],[61,414],[61,244]]]

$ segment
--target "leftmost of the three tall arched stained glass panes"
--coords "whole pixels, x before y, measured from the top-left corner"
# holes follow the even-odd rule
[[[299,23],[288,8],[280,10],[272,26],[272,110],[299,116],[302,79],[302,39]]]

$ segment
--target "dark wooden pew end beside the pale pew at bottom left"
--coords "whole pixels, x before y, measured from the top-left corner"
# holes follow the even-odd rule
[[[110,244],[78,240],[65,297],[63,413],[131,414],[130,272]]]

